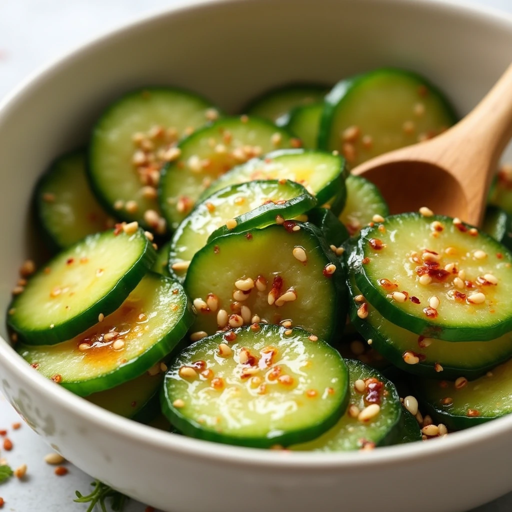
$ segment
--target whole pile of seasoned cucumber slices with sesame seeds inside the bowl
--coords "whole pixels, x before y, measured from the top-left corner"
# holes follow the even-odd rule
[[[390,215],[350,175],[456,120],[397,69],[237,116],[126,94],[36,185],[53,257],[22,266],[14,349],[116,414],[265,449],[370,450],[512,412],[512,168],[482,230]]]

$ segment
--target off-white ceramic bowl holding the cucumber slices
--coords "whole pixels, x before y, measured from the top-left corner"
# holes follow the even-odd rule
[[[423,0],[201,2],[97,39],[1,105],[0,311],[29,251],[34,181],[54,156],[87,139],[123,91],[176,84],[234,111],[279,83],[329,83],[391,65],[424,73],[463,114],[508,65],[510,48],[512,19]],[[0,370],[2,391],[48,443],[87,473],[166,511],[448,512],[512,490],[512,417],[370,453],[258,451],[167,434],[101,410],[32,371],[4,340]]]

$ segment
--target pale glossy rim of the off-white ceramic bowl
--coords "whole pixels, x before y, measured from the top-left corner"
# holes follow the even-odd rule
[[[241,2],[259,2],[260,0],[177,0],[173,6],[152,10],[146,14],[135,16],[133,20],[124,22],[113,29],[100,32],[86,42],[75,45],[69,51],[51,59],[45,65],[30,73],[0,100],[0,122],[11,109],[23,102],[38,83],[51,78],[51,75],[68,62],[81,54],[94,51],[109,39],[122,37],[136,28],[151,25],[161,17],[173,16],[181,12],[193,11],[210,5],[230,5]],[[339,0],[337,0],[339,2]],[[464,15],[469,18],[484,18],[487,23],[501,26],[512,33],[512,14],[496,8],[460,4],[457,0],[342,0],[343,2],[368,2],[390,5],[407,5],[407,8],[418,10],[440,10],[446,13]],[[413,443],[379,447],[373,451],[354,452],[290,452],[288,450],[258,450],[242,446],[213,443],[163,432],[150,426],[118,416],[95,404],[82,399],[38,372],[27,371],[30,367],[11,347],[5,338],[0,336],[0,359],[2,364],[9,366],[20,385],[36,386],[39,391],[48,395],[62,409],[68,410],[75,417],[92,423],[117,437],[130,442],[148,445],[153,448],[174,452],[182,456],[193,456],[200,460],[213,460],[217,463],[232,465],[273,466],[287,468],[288,471],[304,469],[330,470],[330,468],[388,466],[390,463],[401,464],[417,457],[439,457],[457,452],[466,446],[478,442],[496,439],[512,431],[512,416],[504,416],[496,420],[476,425],[471,429],[455,432],[445,438],[430,440],[428,443]],[[364,454],[364,455],[363,455]]]

